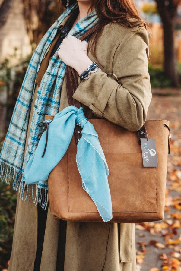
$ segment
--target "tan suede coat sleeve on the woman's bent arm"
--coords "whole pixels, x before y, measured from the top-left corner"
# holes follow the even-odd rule
[[[138,131],[151,102],[148,51],[147,31],[132,29],[116,48],[113,73],[98,68],[79,84],[73,97],[97,115],[129,131]]]

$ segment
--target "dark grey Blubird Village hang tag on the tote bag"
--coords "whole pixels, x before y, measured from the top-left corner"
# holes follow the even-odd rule
[[[141,138],[141,151],[144,167],[157,167],[157,150],[155,140],[153,138]]]

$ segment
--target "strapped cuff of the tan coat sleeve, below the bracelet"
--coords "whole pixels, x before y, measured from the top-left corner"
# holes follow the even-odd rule
[[[94,114],[103,117],[106,104],[118,83],[100,68],[89,79],[79,80],[78,83],[73,98],[88,106]]]

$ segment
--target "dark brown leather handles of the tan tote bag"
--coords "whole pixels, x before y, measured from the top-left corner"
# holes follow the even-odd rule
[[[87,36],[89,36],[90,34],[94,33],[97,29],[98,29],[99,25],[98,23],[95,24],[92,28],[90,28],[89,30],[87,30],[81,37],[80,40],[84,40],[85,38],[87,38]],[[75,90],[78,87],[78,81],[77,81],[77,77],[75,75],[75,71],[72,67],[67,66],[66,67],[66,89],[67,89],[67,97],[68,97],[68,105],[74,105],[77,108],[80,108],[81,104],[79,101],[77,101],[76,99],[74,99],[72,96],[75,92]],[[74,137],[75,137],[75,144],[78,144],[79,138],[81,137],[81,130],[82,128],[79,125],[75,125],[75,129],[74,129]],[[145,126],[143,125],[141,130],[145,133]],[[140,138],[145,138],[145,134],[142,133],[141,131],[138,131],[138,143],[141,145],[141,141]]]

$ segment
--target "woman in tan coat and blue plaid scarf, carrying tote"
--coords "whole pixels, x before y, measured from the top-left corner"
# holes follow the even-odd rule
[[[26,134],[25,147],[13,141],[13,144],[23,146],[23,153],[25,149],[25,153],[30,155],[37,146],[32,144],[32,134],[36,130],[37,121],[40,121],[38,117],[55,115],[57,105],[58,111],[68,106],[64,63],[75,69],[77,77],[94,61],[99,65],[90,78],[78,80],[79,85],[73,96],[81,102],[85,116],[97,118],[104,115],[130,131],[138,131],[146,120],[151,101],[147,64],[149,43],[144,23],[133,1],[77,2],[78,5],[75,0],[62,1],[64,6],[68,6],[68,12],[65,11],[67,13],[64,12],[61,19],[52,26],[30,62],[20,95],[26,93],[28,96],[31,92],[31,98],[27,99],[24,95],[24,102],[21,101],[19,108],[16,107],[14,111],[14,115],[17,115],[28,100],[30,106],[27,106],[26,116],[18,115],[24,118],[21,131]],[[82,33],[97,22],[99,29],[89,37],[88,43],[78,40]],[[64,39],[69,31],[69,36]],[[47,89],[49,92],[46,92]],[[27,118],[28,128],[24,124]],[[9,129],[8,134],[11,130],[13,128]],[[7,136],[1,153],[1,163],[4,163],[2,179],[8,178],[6,160],[10,158],[5,159],[3,155],[9,150],[8,155],[12,156],[8,145],[11,137]],[[34,149],[31,149],[32,145]],[[17,159],[16,154],[14,156]],[[56,219],[50,214],[48,206],[43,210],[48,203],[45,200],[42,205],[37,192],[40,192],[40,196],[46,195],[41,194],[43,186],[27,187],[23,181],[19,184],[19,175],[14,177],[16,170],[12,173],[14,187],[20,185],[18,194],[23,197],[25,193],[26,197],[22,201],[18,195],[9,271],[136,270],[134,224],[64,222]],[[30,196],[31,191],[38,195],[36,199]]]

